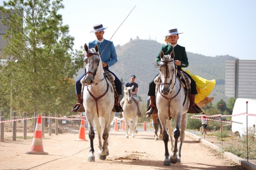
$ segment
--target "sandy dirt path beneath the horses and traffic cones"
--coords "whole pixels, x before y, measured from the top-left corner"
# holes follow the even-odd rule
[[[88,138],[88,130],[85,131]],[[95,132],[95,134],[97,134]],[[90,142],[74,141],[78,133],[64,133],[55,136],[45,134],[44,151],[49,155],[25,154],[29,151],[32,139],[13,141],[12,132],[5,132],[5,141],[0,142],[0,169],[33,170],[239,170],[244,169],[222,154],[185,136],[181,163],[163,166],[164,142],[154,140],[153,131],[139,130],[135,138],[125,138],[125,131],[110,131],[109,156],[102,161],[97,157],[98,138],[95,136],[95,162],[88,162]],[[17,133],[23,136],[23,133]],[[33,136],[28,133],[27,136]],[[169,146],[170,143],[169,143]],[[171,154],[171,150],[169,149]]]

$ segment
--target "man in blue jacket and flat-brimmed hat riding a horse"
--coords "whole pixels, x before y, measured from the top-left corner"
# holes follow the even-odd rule
[[[104,30],[107,29],[107,27],[103,27],[102,24],[97,24],[93,26],[93,30],[90,33],[95,33],[95,36],[97,37],[96,40],[90,41],[88,43],[88,48],[95,48],[95,45],[97,44],[99,46],[99,53],[102,60],[103,68],[109,71],[109,67],[113,66],[117,62],[117,56],[116,56],[116,49],[112,41],[108,41],[103,38]],[[104,52],[103,52],[104,51]],[[119,98],[122,94],[122,83],[119,80],[119,78],[116,77],[116,75],[109,71],[111,74],[115,76],[114,84],[116,86],[116,91],[118,96],[115,97],[115,109],[116,112],[123,112],[123,109],[120,106]],[[76,80],[76,95],[78,99],[78,103],[83,103],[83,99],[81,99],[81,90],[82,85],[80,80],[85,76],[85,73],[82,74],[78,80]],[[72,112],[77,112],[80,106],[72,109]]]

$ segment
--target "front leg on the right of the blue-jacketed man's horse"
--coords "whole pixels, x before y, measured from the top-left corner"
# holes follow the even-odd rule
[[[100,152],[99,159],[105,160],[107,158],[106,147],[107,147],[107,138],[109,137],[109,119],[107,118],[103,119],[103,121],[101,121],[101,126],[104,126],[104,131],[102,134],[102,139],[103,139],[102,151]]]

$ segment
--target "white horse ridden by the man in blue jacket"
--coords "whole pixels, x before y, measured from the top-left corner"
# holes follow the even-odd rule
[[[85,108],[86,119],[89,124],[90,154],[89,162],[95,162],[93,140],[95,133],[93,131],[93,122],[96,124],[96,131],[99,138],[98,157],[105,160],[109,155],[108,137],[111,121],[114,119],[114,90],[103,73],[102,60],[98,53],[99,47],[88,49],[85,48],[85,83],[83,92],[83,106]],[[100,117],[100,118],[99,118]],[[103,132],[102,132],[103,131]],[[103,139],[103,144],[102,144]]]

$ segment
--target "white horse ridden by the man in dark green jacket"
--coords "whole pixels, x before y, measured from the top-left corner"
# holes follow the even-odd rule
[[[180,163],[181,147],[183,144],[185,129],[187,127],[187,110],[189,108],[189,98],[186,96],[185,89],[182,87],[180,80],[175,74],[174,52],[171,55],[160,53],[161,62],[159,66],[161,76],[161,85],[159,85],[156,94],[156,107],[158,109],[158,117],[163,127],[163,140],[165,145],[164,165],[171,166],[171,163]],[[175,119],[175,129],[172,134],[171,117]],[[167,133],[169,130],[169,135]],[[173,147],[172,135],[175,138]],[[168,136],[171,137],[171,154],[169,160],[168,152]],[[177,147],[178,138],[180,141],[179,149]],[[178,152],[178,154],[177,154]],[[171,162],[171,163],[170,163]]]

